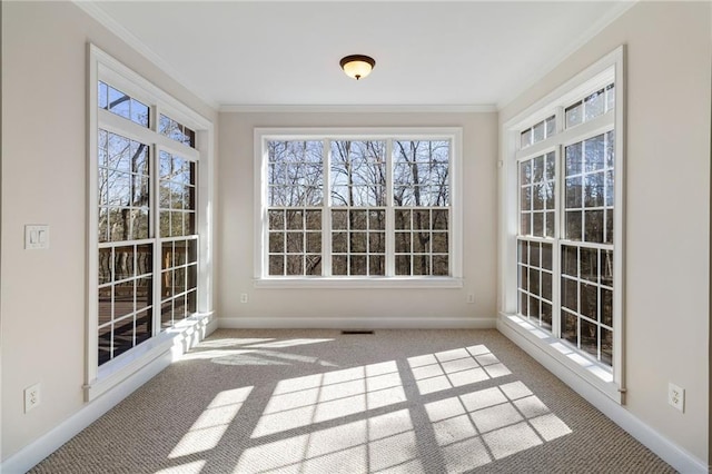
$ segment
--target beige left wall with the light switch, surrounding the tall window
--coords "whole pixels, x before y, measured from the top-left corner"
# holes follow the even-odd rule
[[[217,113],[70,2],[2,2],[2,461],[86,406],[87,42]],[[23,226],[48,224],[47,250]],[[23,414],[23,388],[41,405]]]

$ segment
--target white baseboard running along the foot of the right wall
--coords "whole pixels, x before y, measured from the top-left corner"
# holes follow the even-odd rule
[[[497,329],[525,353],[532,356],[536,362],[542,364],[548,372],[554,374],[574,392],[595,406],[613,423],[625,429],[650,451],[673,466],[678,472],[685,474],[711,472],[705,462],[678,446],[675,443],[671,442],[634,416],[630,411],[625,409],[625,407],[615,403],[609,396],[591,386],[582,379],[578,374],[561,364],[561,362],[556,361],[528,338],[522,336],[505,322],[497,319]]]

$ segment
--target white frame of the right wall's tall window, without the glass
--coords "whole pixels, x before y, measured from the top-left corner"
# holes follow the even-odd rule
[[[497,327],[507,336],[525,348],[542,357],[552,367],[573,375],[572,379],[584,381],[590,386],[600,391],[616,403],[625,402],[625,347],[624,347],[624,297],[625,297],[625,48],[623,46],[606,55],[601,60],[552,91],[546,97],[533,103],[531,107],[507,120],[503,125],[501,136],[502,158],[500,161],[500,316]],[[570,103],[587,96],[611,81],[615,82],[614,110],[596,117],[584,124],[566,129],[564,126],[564,108]],[[526,322],[517,316],[517,229],[518,229],[518,158],[534,157],[552,150],[550,139],[534,144],[520,150],[520,132],[537,121],[555,113],[557,117],[556,134],[554,140],[558,144],[557,150],[563,151],[564,146],[587,139],[599,130],[605,130],[611,124],[614,126],[615,136],[615,203],[614,203],[614,236],[613,236],[613,364],[606,369],[602,364],[592,362],[577,350],[572,350],[562,339]],[[557,151],[558,154],[558,151]],[[557,159],[556,169],[556,196],[558,199],[561,186],[563,186],[563,170],[560,167],[562,159]],[[563,225],[562,203],[556,201],[560,217],[556,221],[556,235],[560,235]],[[554,295],[560,292],[561,256],[556,255],[554,247],[553,268],[555,278],[553,282]],[[555,309],[555,308],[554,308]],[[554,314],[554,334],[558,333],[556,315]]]

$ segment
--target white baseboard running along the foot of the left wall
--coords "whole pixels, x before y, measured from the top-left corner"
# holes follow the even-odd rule
[[[207,336],[217,329],[217,327],[218,322],[215,317],[211,317],[206,324],[202,334]],[[87,403],[79,412],[6,460],[0,465],[0,472],[3,474],[22,474],[28,472],[61,445],[78,435],[87,426],[99,419],[123,398],[168,367],[176,356],[182,354],[199,342],[199,334],[201,334],[201,332],[190,332],[189,334],[177,336],[174,339],[172,346],[169,345],[166,350],[152,358],[150,363],[144,365],[140,369],[129,375],[120,384],[107,391],[101,396]]]

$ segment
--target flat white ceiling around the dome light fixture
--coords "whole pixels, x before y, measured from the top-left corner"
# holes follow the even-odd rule
[[[630,1],[77,2],[214,107],[502,107]],[[360,81],[338,66],[375,58]]]

